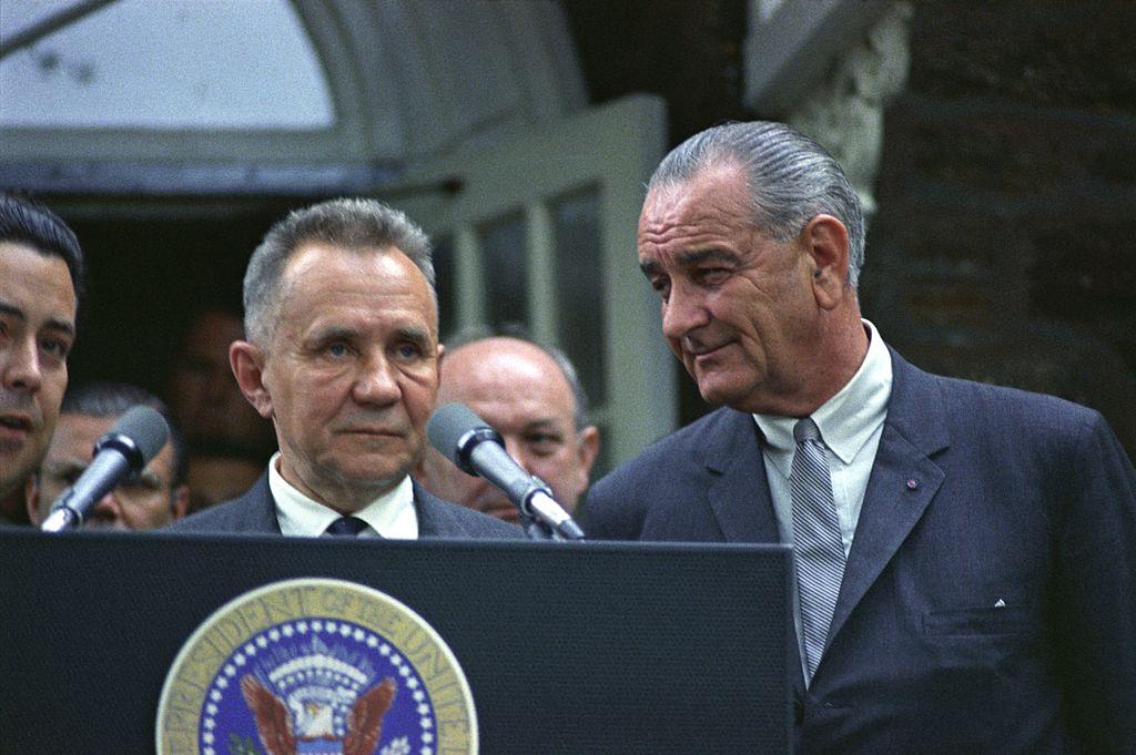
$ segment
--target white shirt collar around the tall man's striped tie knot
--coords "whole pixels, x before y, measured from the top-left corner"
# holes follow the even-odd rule
[[[868,353],[860,369],[835,396],[812,412],[825,445],[845,464],[851,463],[887,414],[892,395],[892,358],[876,326],[862,320],[868,332]],[[796,442],[793,426],[799,417],[754,414],[777,468],[787,477]]]

